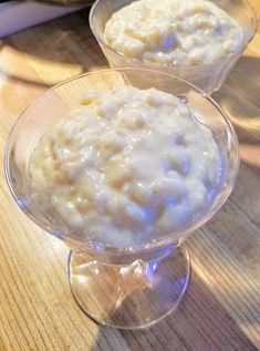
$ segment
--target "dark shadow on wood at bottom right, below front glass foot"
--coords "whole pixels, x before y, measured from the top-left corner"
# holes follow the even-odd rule
[[[146,330],[101,328],[92,351],[103,350],[103,342],[107,345],[110,341],[111,348],[104,350],[257,350],[195,272],[184,300],[170,316]]]

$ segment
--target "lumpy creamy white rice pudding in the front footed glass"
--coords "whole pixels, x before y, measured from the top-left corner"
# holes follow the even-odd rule
[[[30,162],[43,207],[75,235],[116,247],[181,230],[211,204],[221,159],[178,97],[125,86],[87,93]]]

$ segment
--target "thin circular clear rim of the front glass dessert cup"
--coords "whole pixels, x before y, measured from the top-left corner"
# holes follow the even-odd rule
[[[21,206],[21,202],[19,199],[19,197],[17,196],[15,193],[15,187],[13,185],[12,182],[12,177],[11,177],[11,171],[10,171],[10,146],[11,146],[11,142],[13,140],[14,136],[14,131],[17,130],[17,127],[19,126],[20,122],[22,121],[24,114],[27,113],[27,111],[29,109],[31,109],[31,106],[35,105],[38,103],[38,101],[41,101],[45,95],[49,95],[50,93],[52,93],[53,91],[55,91],[56,89],[59,89],[60,86],[66,85],[67,83],[72,82],[72,81],[76,81],[80,79],[84,79],[85,76],[90,76],[90,75],[96,75],[96,74],[102,74],[102,73],[110,73],[110,72],[125,72],[125,71],[145,71],[145,72],[152,72],[152,73],[156,73],[156,74],[160,74],[160,75],[166,75],[169,76],[171,79],[175,79],[177,81],[181,81],[183,83],[189,85],[190,87],[193,87],[193,90],[198,93],[200,96],[202,96],[202,99],[206,99],[209,101],[209,103],[211,105],[214,105],[214,107],[216,110],[218,110],[218,112],[220,113],[222,120],[226,123],[226,130],[229,131],[230,135],[232,136],[232,144],[233,144],[233,149],[236,152],[235,155],[235,166],[232,167],[232,172],[229,173],[229,177],[230,177],[230,182],[225,190],[225,194],[221,194],[221,189],[222,186],[220,187],[220,190],[218,193],[221,194],[220,198],[218,199],[217,204],[214,206],[214,203],[211,204],[210,207],[214,206],[214,208],[210,208],[209,211],[206,211],[205,214],[202,214],[198,220],[196,220],[195,223],[190,223],[187,227],[184,227],[181,230],[177,230],[174,231],[169,235],[162,235],[158,240],[150,240],[148,242],[144,242],[141,245],[135,245],[134,248],[132,246],[128,247],[116,247],[116,246],[112,246],[110,244],[104,244],[104,242],[100,242],[100,241],[95,241],[95,240],[85,240],[85,241],[81,241],[79,238],[76,237],[67,237],[67,235],[59,235],[59,234],[54,234],[52,233],[46,226],[42,225],[41,221],[35,218],[32,213],[30,211],[30,208],[27,206]],[[54,86],[52,86],[51,89],[48,89],[45,92],[43,92],[42,94],[40,94],[38,97],[35,97],[17,117],[14,124],[12,125],[7,142],[6,142],[6,147],[4,147],[4,155],[3,155],[3,167],[4,167],[4,176],[7,179],[7,184],[9,186],[9,189],[12,194],[13,199],[15,200],[15,203],[18,204],[18,206],[20,207],[20,209],[33,221],[41,229],[45,230],[46,233],[49,233],[50,235],[53,235],[60,239],[62,239],[65,242],[74,242],[79,248],[93,248],[93,247],[101,247],[102,248],[102,252],[110,252],[110,254],[114,254],[114,256],[118,256],[118,255],[133,255],[133,254],[137,254],[137,252],[142,252],[142,251],[147,251],[147,250],[153,250],[153,249],[158,249],[158,248],[163,248],[166,245],[170,245],[173,242],[176,242],[176,240],[178,240],[179,238],[184,237],[186,234],[194,231],[196,229],[198,229],[199,227],[201,227],[205,223],[207,223],[220,208],[221,206],[226,203],[226,200],[228,199],[230,193],[232,192],[236,178],[238,176],[238,171],[239,171],[239,143],[238,143],[238,137],[237,134],[235,132],[235,128],[230,122],[230,120],[228,118],[227,114],[225,113],[225,111],[218,105],[218,103],[211,97],[209,96],[207,93],[205,93],[202,90],[200,90],[199,87],[197,87],[196,85],[179,79],[178,76],[175,76],[173,74],[168,74],[168,73],[164,73],[164,72],[159,72],[159,71],[155,71],[155,70],[147,70],[147,69],[135,69],[135,68],[118,68],[118,69],[105,69],[105,70],[97,70],[97,71],[93,71],[93,72],[86,72],[80,75],[75,75],[73,78],[70,78]],[[230,169],[229,169],[230,172]],[[217,196],[218,196],[217,195]]]

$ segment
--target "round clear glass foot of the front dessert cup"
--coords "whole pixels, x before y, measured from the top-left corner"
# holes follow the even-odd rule
[[[76,251],[69,256],[71,290],[81,309],[95,322],[121,329],[149,327],[170,313],[189,273],[186,248],[127,266],[106,265]]]

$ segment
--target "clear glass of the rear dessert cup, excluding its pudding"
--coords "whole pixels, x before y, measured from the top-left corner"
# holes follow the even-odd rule
[[[90,12],[90,24],[111,68],[141,68],[173,74],[198,86],[207,94],[220,89],[248,43],[257,31],[257,14],[247,0],[212,1],[237,20],[245,31],[242,48],[236,54],[216,60],[209,64],[178,65],[134,59],[111,48],[104,39],[104,27],[111,16],[134,0],[97,0]]]

